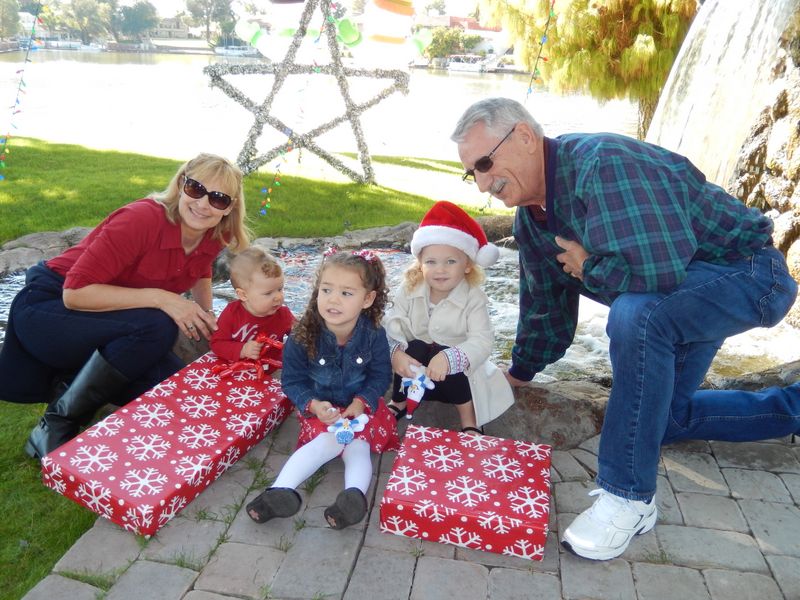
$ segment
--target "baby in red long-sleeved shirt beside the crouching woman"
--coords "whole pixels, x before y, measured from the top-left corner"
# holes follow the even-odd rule
[[[270,347],[262,354],[264,342],[259,334],[282,342],[289,334],[294,316],[283,300],[283,269],[263,248],[250,246],[233,257],[230,264],[234,300],[217,320],[211,337],[211,350],[218,357],[234,362],[242,359],[281,360],[280,348]],[[274,368],[265,363],[265,369]]]

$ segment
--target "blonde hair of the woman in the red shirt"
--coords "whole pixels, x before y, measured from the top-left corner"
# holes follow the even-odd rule
[[[191,179],[210,180],[220,182],[222,189],[218,190],[233,198],[233,209],[214,227],[213,238],[237,252],[250,245],[250,231],[245,224],[246,207],[244,204],[244,175],[242,171],[229,160],[214,154],[198,154],[192,160],[182,164],[167,189],[163,192],[153,192],[150,197],[164,205],[167,219],[170,223],[180,223],[178,201],[183,189],[184,176]]]

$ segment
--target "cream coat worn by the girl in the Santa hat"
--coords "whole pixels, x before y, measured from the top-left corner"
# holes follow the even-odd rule
[[[429,287],[410,293],[401,288],[387,311],[384,327],[389,338],[407,347],[412,340],[457,347],[469,359],[465,375],[472,392],[478,426],[496,419],[514,404],[511,386],[489,360],[494,329],[489,319],[489,299],[479,287],[462,281],[430,310]]]

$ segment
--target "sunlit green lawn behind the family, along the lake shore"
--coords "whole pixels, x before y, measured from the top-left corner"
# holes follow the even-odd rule
[[[91,150],[13,138],[0,182],[0,244],[37,231],[92,227],[114,209],[162,190],[179,161],[141,154]],[[372,157],[373,161],[407,168],[460,173],[457,163],[432,159]],[[250,227],[256,237],[319,237],[346,229],[365,229],[419,221],[429,198],[379,185],[331,183],[274,173],[256,172],[245,178]],[[259,215],[272,188],[270,208]],[[467,209],[472,214],[478,211]]]

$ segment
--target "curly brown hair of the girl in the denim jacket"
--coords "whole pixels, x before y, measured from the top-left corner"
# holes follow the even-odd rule
[[[389,303],[389,288],[386,287],[386,270],[377,255],[364,252],[334,252],[322,259],[322,264],[317,269],[316,279],[314,280],[314,290],[311,292],[311,299],[308,306],[295,323],[292,329],[292,337],[303,346],[309,358],[313,358],[317,351],[317,341],[319,340],[325,322],[319,314],[317,298],[319,296],[319,285],[325,269],[331,266],[350,269],[358,273],[367,292],[375,292],[375,300],[368,308],[361,312],[370,322],[379,327],[383,312]]]

